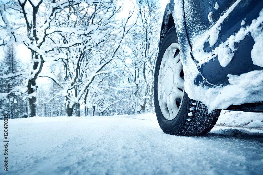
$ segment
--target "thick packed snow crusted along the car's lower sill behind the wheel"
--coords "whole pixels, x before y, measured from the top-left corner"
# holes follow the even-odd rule
[[[190,98],[201,100],[209,110],[226,109],[231,104],[261,102],[263,99],[263,71],[251,71],[238,75],[228,75],[230,85],[208,88],[188,82],[186,91]],[[186,82],[187,83],[187,82]]]

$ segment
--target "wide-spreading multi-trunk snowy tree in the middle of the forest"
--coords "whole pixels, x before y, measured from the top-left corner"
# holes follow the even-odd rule
[[[80,105],[83,102],[87,105],[89,88],[96,82],[97,76],[111,74],[118,77],[118,73],[107,68],[107,65],[118,59],[118,50],[134,23],[129,24],[133,12],[117,19],[122,9],[116,5],[117,2],[102,0],[73,6],[67,25],[82,29],[85,34],[64,35],[63,43],[53,55],[63,63],[64,80],[61,82],[53,76],[41,75],[51,78],[62,89],[67,116],[72,116],[74,109],[76,115],[80,116]]]

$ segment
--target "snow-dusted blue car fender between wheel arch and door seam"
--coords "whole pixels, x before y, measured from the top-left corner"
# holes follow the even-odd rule
[[[184,67],[184,78],[186,84],[185,92],[190,94],[190,92],[192,91],[191,90],[192,86],[187,86],[187,84],[189,85],[192,84],[192,81],[202,82],[206,86],[210,86],[210,84],[200,74],[198,67],[196,66],[197,62],[191,56],[192,49],[186,31],[183,0],[175,0],[175,1],[171,0],[168,2],[163,15],[159,47],[162,43],[162,40],[166,32],[169,30],[169,28],[171,28],[171,26],[175,26],[176,34],[178,37],[178,42],[180,47],[180,57]],[[192,75],[198,75],[198,76],[193,77]]]

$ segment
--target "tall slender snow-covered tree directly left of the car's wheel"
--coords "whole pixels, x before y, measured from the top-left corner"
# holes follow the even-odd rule
[[[137,1],[136,30],[127,40],[132,54],[123,61],[124,75],[133,85],[130,91],[131,107],[137,112],[154,112],[153,83],[161,24],[160,4],[156,0]],[[126,46],[126,47],[127,47]],[[125,48],[127,49],[127,48]],[[126,58],[127,58],[126,57]]]

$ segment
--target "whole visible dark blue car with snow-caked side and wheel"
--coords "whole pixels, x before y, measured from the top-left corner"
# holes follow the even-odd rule
[[[172,135],[207,134],[222,109],[263,112],[263,1],[170,0],[154,104]]]

